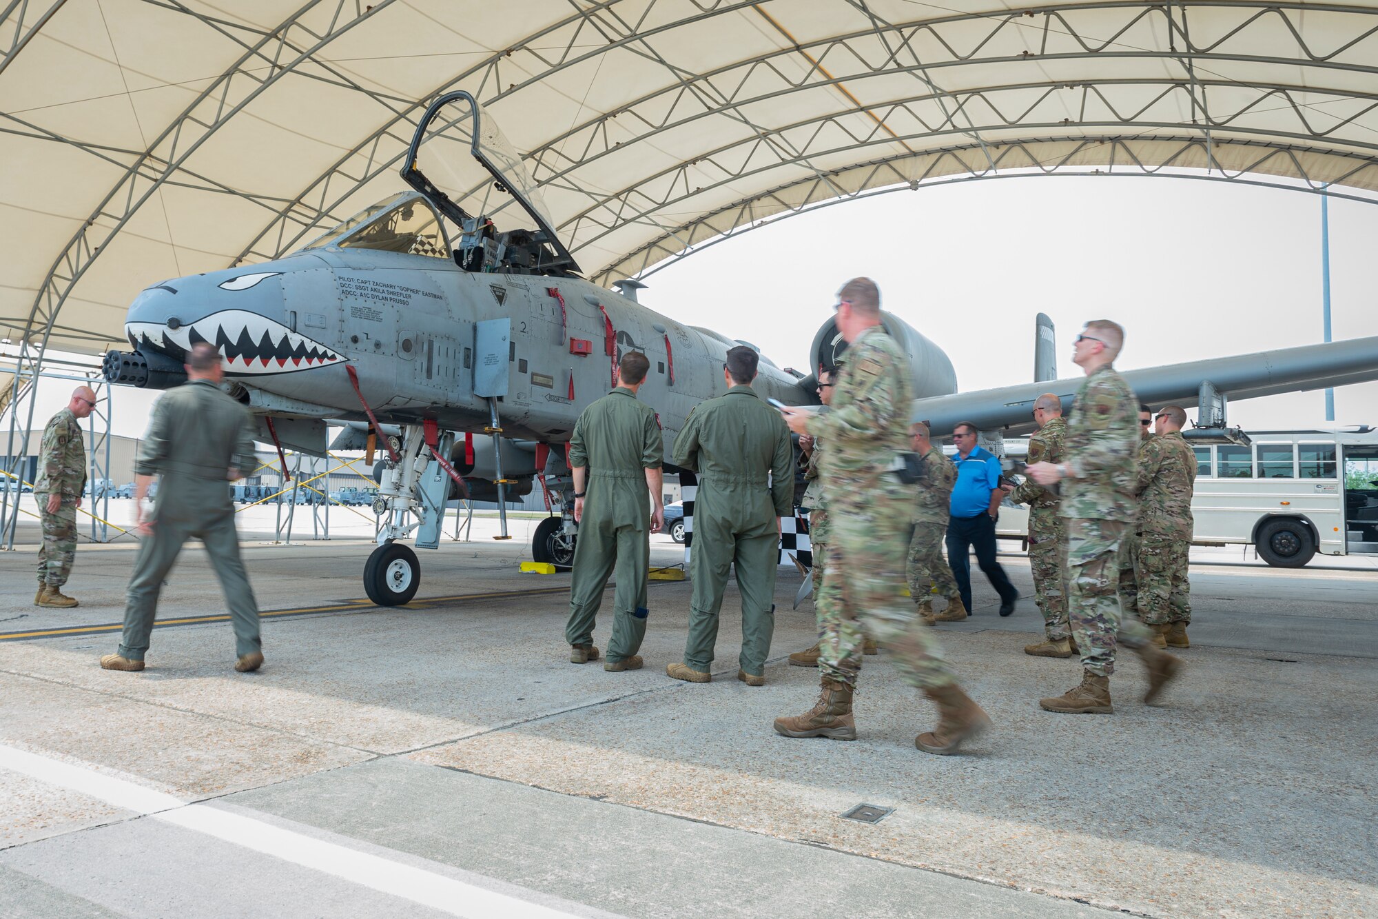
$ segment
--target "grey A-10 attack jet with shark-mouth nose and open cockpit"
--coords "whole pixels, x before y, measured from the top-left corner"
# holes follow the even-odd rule
[[[402,540],[437,548],[448,500],[502,502],[537,477],[559,513],[536,528],[532,555],[568,566],[577,527],[566,446],[579,413],[615,384],[621,353],[650,359],[641,399],[657,411],[668,458],[689,411],[722,395],[726,350],[745,344],[642,306],[637,281],[613,293],[580,277],[521,157],[467,92],[427,109],[401,175],[412,190],[284,258],[150,286],[125,322],[132,353],[105,359],[110,382],[168,388],[185,378],[190,346],[211,342],[265,443],[324,454],[329,419],[346,422],[331,447],[382,450],[382,527],[364,586],[383,606],[415,595],[420,566]],[[959,421],[1027,431],[1039,393],[1071,396],[1079,382],[1050,379],[1043,341],[1038,382],[958,393],[941,348],[893,315],[885,327],[909,359],[914,417],[936,433]],[[813,373],[762,357],[757,391],[817,404],[817,370],[845,348],[828,320]],[[1126,377],[1158,404],[1193,403],[1204,381],[1222,397],[1361,382],[1378,378],[1378,338]]]

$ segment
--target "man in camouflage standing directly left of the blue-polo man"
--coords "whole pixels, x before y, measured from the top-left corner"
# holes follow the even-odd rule
[[[905,560],[909,596],[925,625],[933,625],[938,620],[960,622],[966,618],[966,607],[952,578],[952,569],[943,557],[956,466],[933,446],[929,426],[922,421],[909,425],[909,446],[923,457],[925,476],[914,495],[914,534],[909,537],[909,557]],[[937,617],[933,615],[934,588],[948,604]]]

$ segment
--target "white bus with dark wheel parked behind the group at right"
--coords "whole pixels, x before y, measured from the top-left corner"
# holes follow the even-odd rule
[[[1253,545],[1297,569],[1317,553],[1378,555],[1378,431],[1253,431],[1253,444],[1193,446],[1193,545]],[[1021,455],[1027,442],[1006,442]],[[996,527],[1022,538],[1028,509],[1006,505]]]

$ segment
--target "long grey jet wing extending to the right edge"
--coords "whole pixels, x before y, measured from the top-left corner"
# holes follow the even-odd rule
[[[1122,373],[1140,400],[1155,408],[1167,403],[1196,406],[1200,385],[1207,379],[1231,399],[1346,386],[1378,379],[1378,335]],[[933,435],[951,433],[963,421],[981,431],[1027,433],[1035,428],[1035,399],[1045,392],[1056,393],[1062,399],[1062,411],[1068,411],[1082,379],[1078,375],[915,399],[914,419],[927,421]]]

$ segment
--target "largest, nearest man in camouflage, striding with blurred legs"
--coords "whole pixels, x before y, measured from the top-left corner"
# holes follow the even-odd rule
[[[774,729],[785,737],[854,740],[852,694],[863,635],[870,633],[893,653],[900,676],[938,705],[938,726],[919,734],[915,745],[952,753],[989,718],[958,687],[938,643],[901,595],[914,486],[893,469],[908,447],[908,362],[881,324],[875,281],[847,281],[838,299],[836,328],[849,348],[832,411],[788,411],[785,421],[795,433],[828,442],[821,477],[832,542],[823,584],[824,592],[841,585],[841,603],[820,610],[828,621],[821,625],[817,704],[803,715],[777,718]]]

